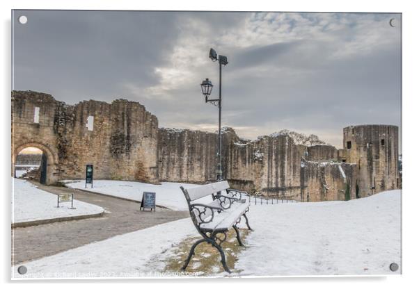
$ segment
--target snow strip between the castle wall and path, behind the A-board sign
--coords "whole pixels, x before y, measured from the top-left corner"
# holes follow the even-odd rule
[[[91,192],[100,192],[105,195],[115,197],[122,197],[125,199],[132,199],[134,201],[141,201],[143,192],[155,192],[156,204],[171,208],[172,210],[188,210],[188,204],[184,198],[180,186],[184,188],[193,188],[196,185],[190,183],[161,183],[161,185],[152,185],[150,183],[140,183],[136,181],[107,181],[95,180],[93,181],[93,188],[87,185],[85,188],[85,181],[63,181],[69,188],[77,188],[82,190],[89,190]],[[211,197],[207,198],[210,201]]]

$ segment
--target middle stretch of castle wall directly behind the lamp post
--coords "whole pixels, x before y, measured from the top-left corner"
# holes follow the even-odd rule
[[[160,181],[215,181],[217,140],[216,133],[159,129]],[[299,197],[301,148],[287,135],[250,141],[224,129],[222,154],[223,178],[232,188]]]

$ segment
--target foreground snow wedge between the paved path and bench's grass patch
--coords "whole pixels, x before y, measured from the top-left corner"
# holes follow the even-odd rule
[[[162,252],[187,236],[197,236],[190,218],[152,226],[93,242],[76,249],[25,263],[28,272],[13,278],[155,277],[164,263]]]

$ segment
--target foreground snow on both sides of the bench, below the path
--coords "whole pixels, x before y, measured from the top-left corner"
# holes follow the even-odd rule
[[[400,274],[388,268],[401,264],[400,208],[400,190],[352,201],[251,206],[255,231],[235,264],[240,273],[232,276]],[[13,276],[165,276],[164,260],[197,235],[189,218],[177,220],[26,263],[25,275],[13,267]]]

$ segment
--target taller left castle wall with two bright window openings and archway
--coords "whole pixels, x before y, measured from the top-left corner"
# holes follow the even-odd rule
[[[84,179],[93,164],[95,179],[157,183],[157,117],[132,101],[82,101],[68,106],[49,94],[13,92],[12,147],[39,147],[52,166],[47,183]],[[39,124],[34,123],[40,108]],[[86,127],[93,116],[93,130]],[[13,160],[15,156],[13,156]]]

